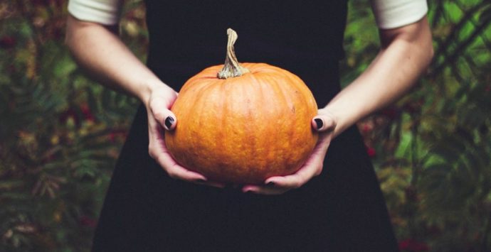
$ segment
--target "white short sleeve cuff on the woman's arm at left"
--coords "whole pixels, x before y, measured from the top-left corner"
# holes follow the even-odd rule
[[[70,0],[68,12],[82,21],[115,25],[120,18],[122,0]]]

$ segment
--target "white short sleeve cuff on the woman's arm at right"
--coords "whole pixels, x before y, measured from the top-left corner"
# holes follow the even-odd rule
[[[371,0],[377,26],[398,28],[419,21],[428,12],[426,0]]]

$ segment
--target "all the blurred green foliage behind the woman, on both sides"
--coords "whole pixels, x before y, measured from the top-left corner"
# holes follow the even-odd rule
[[[402,251],[491,251],[491,3],[430,1],[433,63],[359,123]],[[368,1],[349,3],[343,82],[377,53]],[[66,0],[0,3],[0,251],[88,251],[138,102],[80,72]],[[145,60],[142,1],[122,39]]]

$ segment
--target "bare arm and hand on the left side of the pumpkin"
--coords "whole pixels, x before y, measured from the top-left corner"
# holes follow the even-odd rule
[[[201,185],[222,187],[192,172],[172,158],[165,146],[164,130],[176,127],[176,116],[169,110],[177,93],[159,80],[149,68],[135,57],[112,31],[117,26],[67,18],[66,44],[70,52],[90,76],[112,89],[122,90],[142,101],[147,108],[149,126],[149,155],[170,177]],[[167,124],[169,126],[165,126]]]

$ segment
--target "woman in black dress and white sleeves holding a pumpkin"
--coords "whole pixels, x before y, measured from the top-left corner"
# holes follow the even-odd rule
[[[346,1],[148,0],[147,65],[117,38],[118,0],[71,0],[67,44],[97,80],[142,101],[95,232],[94,251],[397,251],[354,124],[401,97],[433,49],[424,0],[373,0],[381,50],[339,88]],[[293,175],[223,187],[177,164],[163,130],[181,84],[223,62],[225,31],[242,62],[299,75],[320,106],[320,140]],[[327,151],[329,147],[329,151]],[[274,195],[274,196],[270,196]]]

